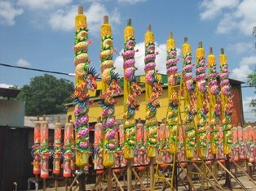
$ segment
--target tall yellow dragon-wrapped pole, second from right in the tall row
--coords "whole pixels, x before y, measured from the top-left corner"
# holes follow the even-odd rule
[[[210,47],[210,54],[207,58],[208,63],[208,93],[210,97],[209,102],[209,121],[210,121],[210,151],[212,154],[218,154],[219,147],[219,133],[218,124],[220,121],[220,102],[219,102],[219,89],[218,89],[218,72],[216,68],[215,56],[213,54],[213,48]]]

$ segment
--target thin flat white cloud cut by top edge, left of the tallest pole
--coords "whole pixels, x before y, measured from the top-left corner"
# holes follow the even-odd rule
[[[18,0],[18,5],[31,10],[46,10],[68,5],[73,0]]]

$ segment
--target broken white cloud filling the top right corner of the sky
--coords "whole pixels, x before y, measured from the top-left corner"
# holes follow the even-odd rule
[[[230,33],[232,30],[239,30],[245,35],[251,35],[252,29],[256,26],[256,3],[255,0],[204,0],[200,5],[201,20],[210,20],[219,17],[216,33]]]

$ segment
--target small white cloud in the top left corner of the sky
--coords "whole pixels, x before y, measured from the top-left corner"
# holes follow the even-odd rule
[[[0,1],[0,24],[14,25],[15,17],[22,13],[23,10],[15,8],[11,2]]]

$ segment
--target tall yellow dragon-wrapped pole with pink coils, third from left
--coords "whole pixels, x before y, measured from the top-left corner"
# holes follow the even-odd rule
[[[136,97],[141,95],[138,77],[135,76],[135,34],[134,28],[131,26],[131,20],[124,30],[125,47],[122,52],[124,59],[124,119],[125,119],[125,142],[124,142],[124,158],[135,158],[136,146],[136,126],[135,111],[139,109],[139,101]]]

